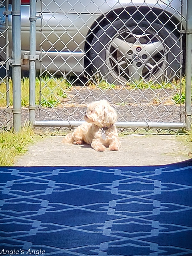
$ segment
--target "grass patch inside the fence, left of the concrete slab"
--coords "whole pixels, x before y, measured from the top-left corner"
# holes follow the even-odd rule
[[[15,157],[27,151],[27,146],[42,138],[30,127],[24,127],[18,133],[0,131],[0,166],[12,166]]]

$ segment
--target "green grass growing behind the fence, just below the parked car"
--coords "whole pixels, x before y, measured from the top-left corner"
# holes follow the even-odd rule
[[[64,98],[67,97],[68,92],[73,90],[73,86],[63,77],[42,77],[40,88],[40,78],[36,78],[35,90],[35,104],[42,107],[57,107],[62,104]],[[74,85],[75,86],[75,85]],[[86,86],[92,89],[119,89],[121,85],[109,84],[96,75],[93,80],[90,80]],[[181,87],[181,94],[180,94]],[[172,83],[162,81],[161,83],[145,82],[140,80],[134,83],[127,83],[124,85],[127,90],[145,90],[145,89],[176,89],[172,100],[177,103],[185,103],[185,77],[182,81],[174,80]],[[41,97],[40,97],[41,95]],[[0,83],[0,107],[6,107],[6,84],[4,81]],[[21,105],[28,107],[29,105],[29,78],[21,80]],[[12,107],[12,79],[10,79],[10,106]]]

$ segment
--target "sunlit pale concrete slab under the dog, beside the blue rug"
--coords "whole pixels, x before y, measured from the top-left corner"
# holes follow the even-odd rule
[[[15,166],[161,165],[190,158],[190,149],[175,135],[128,135],[120,138],[119,151],[104,152],[96,152],[89,145],[64,144],[62,140],[62,136],[52,136],[29,146]]]

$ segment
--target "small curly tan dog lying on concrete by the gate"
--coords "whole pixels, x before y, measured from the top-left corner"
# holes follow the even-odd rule
[[[63,142],[91,145],[96,151],[118,150],[120,142],[115,122],[117,114],[106,100],[94,101],[87,107],[85,123],[65,136]]]

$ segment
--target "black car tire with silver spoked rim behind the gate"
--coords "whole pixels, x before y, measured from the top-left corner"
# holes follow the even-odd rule
[[[118,20],[95,34],[89,59],[110,84],[170,81],[179,73],[180,42],[156,22]]]

